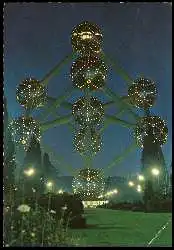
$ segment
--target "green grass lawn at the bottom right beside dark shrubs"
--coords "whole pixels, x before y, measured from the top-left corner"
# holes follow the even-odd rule
[[[147,246],[172,214],[91,208],[85,216],[88,228],[70,231],[81,246]],[[151,246],[172,246],[171,221]]]

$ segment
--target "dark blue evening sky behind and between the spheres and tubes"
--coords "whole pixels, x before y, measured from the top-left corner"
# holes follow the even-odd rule
[[[158,99],[152,112],[167,121],[168,142],[163,146],[167,165],[172,158],[172,7],[164,3],[8,3],[4,13],[4,91],[10,116],[23,111],[15,99],[22,79],[39,80],[71,53],[70,35],[84,20],[98,24],[104,34],[103,50],[124,67],[132,78],[144,75],[153,79]],[[50,96],[58,97],[71,86],[71,63],[48,85]],[[120,95],[127,94],[125,82],[109,68],[106,83]],[[70,100],[77,100],[79,94]],[[101,95],[101,100],[109,100]],[[110,111],[114,112],[114,108]],[[57,114],[65,114],[63,109]],[[67,113],[67,111],[66,111]],[[54,114],[54,118],[56,115]],[[124,118],[130,120],[127,113]],[[72,149],[72,132],[67,125],[48,130],[42,142],[50,146],[73,169],[83,161]],[[94,159],[94,167],[106,166],[133,141],[131,130],[113,124],[103,133],[103,146]],[[131,152],[106,175],[127,175],[140,171],[141,150]],[[55,165],[64,170],[63,164]]]

